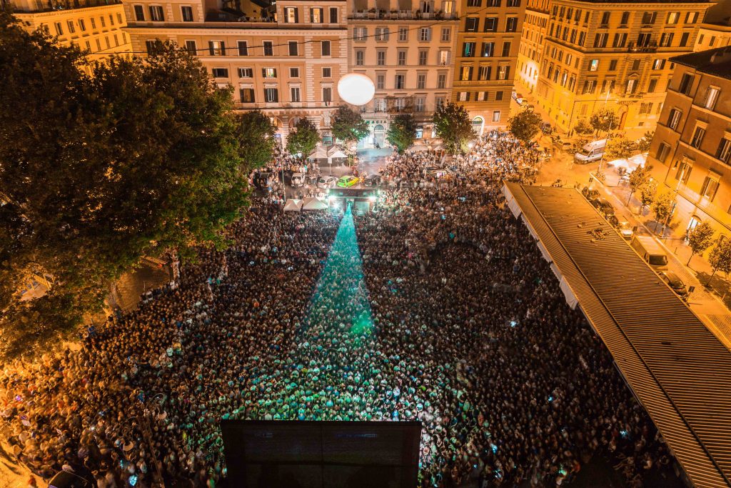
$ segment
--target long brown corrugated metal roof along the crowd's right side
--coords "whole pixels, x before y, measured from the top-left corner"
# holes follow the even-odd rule
[[[731,486],[730,351],[575,189],[504,194],[694,486]]]

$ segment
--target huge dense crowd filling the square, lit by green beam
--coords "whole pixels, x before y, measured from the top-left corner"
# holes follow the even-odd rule
[[[385,180],[423,179],[425,157]],[[597,454],[641,484],[670,455],[504,204],[538,162],[496,132],[449,184],[385,185],[371,213],[257,198],[228,249],[80,350],[4,367],[15,456],[99,488],[214,487],[221,419],[419,420],[423,487],[557,486]]]

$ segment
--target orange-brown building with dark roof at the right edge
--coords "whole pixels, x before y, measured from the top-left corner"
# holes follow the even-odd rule
[[[675,71],[650,146],[655,178],[675,192],[680,232],[699,222],[731,237],[731,47],[670,59]],[[676,230],[676,232],[677,232]]]

